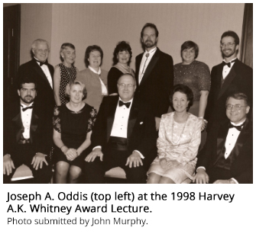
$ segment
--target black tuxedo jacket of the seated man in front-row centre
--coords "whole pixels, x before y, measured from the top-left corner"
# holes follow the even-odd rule
[[[118,100],[118,96],[103,98],[96,123],[92,129],[92,148],[102,146],[103,154],[112,131]],[[154,115],[151,107],[138,98],[134,98],[130,108],[127,133],[128,151],[130,154],[135,149],[141,152],[145,158],[143,163],[147,167],[157,156],[157,132]]]

